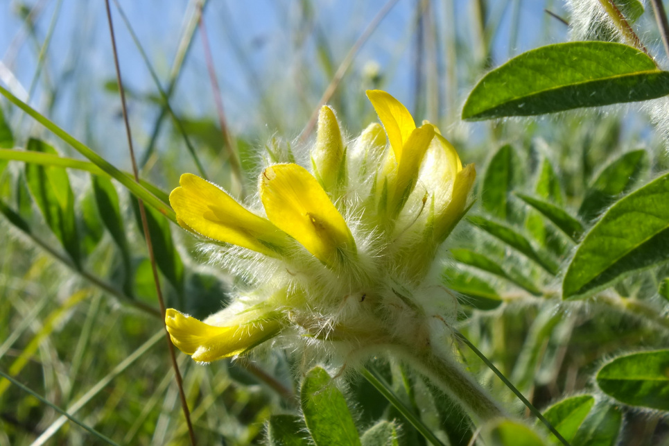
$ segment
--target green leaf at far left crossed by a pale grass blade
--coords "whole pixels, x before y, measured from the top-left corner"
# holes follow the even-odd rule
[[[38,139],[28,141],[28,150],[55,154],[53,147]],[[46,224],[62,243],[70,258],[80,266],[79,237],[74,214],[74,194],[65,169],[26,165],[26,182]]]

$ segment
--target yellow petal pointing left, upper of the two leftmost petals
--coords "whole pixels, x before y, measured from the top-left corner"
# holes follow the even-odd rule
[[[191,173],[181,175],[180,185],[170,194],[170,204],[186,230],[274,257],[288,243],[286,233],[218,186]]]

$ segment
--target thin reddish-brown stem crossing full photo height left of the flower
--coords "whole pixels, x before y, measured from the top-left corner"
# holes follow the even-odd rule
[[[130,120],[128,119],[128,108],[125,103],[125,90],[123,89],[123,80],[121,79],[119,52],[116,49],[116,38],[114,37],[114,24],[112,23],[112,10],[110,9],[109,0],[105,0],[105,6],[107,8],[107,20],[109,22],[110,37],[112,39],[112,51],[114,53],[114,67],[116,68],[116,81],[119,83],[119,92],[121,94],[121,108],[123,110],[123,122],[125,123],[125,135],[128,137],[128,149],[130,150],[132,173],[134,174],[135,182],[139,183],[139,170],[137,169],[137,161],[135,160],[134,148],[132,146],[132,132],[130,130]],[[163,299],[162,290],[160,287],[158,269],[156,266],[155,255],[153,252],[153,243],[151,243],[151,234],[148,230],[148,221],[146,220],[146,209],[144,209],[143,200],[138,198],[137,201],[139,202],[139,215],[141,216],[141,226],[142,230],[144,231],[144,239],[146,240],[146,249],[148,250],[148,257],[151,262],[151,271],[153,272],[153,280],[155,282],[156,293],[158,295],[158,303],[160,305],[160,312],[162,314],[163,328],[165,330],[165,336],[167,340],[168,350],[170,352],[172,367],[174,369],[175,377],[177,379],[177,386],[179,387],[181,406],[184,411],[184,418],[186,418],[186,424],[188,425],[188,433],[191,439],[191,444],[195,446],[196,445],[195,432],[193,431],[193,424],[191,424],[191,413],[188,409],[188,402],[186,401],[186,393],[184,392],[184,385],[181,377],[181,372],[179,371],[179,366],[177,365],[177,357],[174,352],[174,345],[172,344],[170,334],[167,331],[167,325],[165,324],[165,301]]]

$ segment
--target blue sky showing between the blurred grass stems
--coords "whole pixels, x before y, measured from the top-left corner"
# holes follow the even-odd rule
[[[37,45],[44,40],[59,0],[26,2],[31,6],[40,3],[44,5],[37,19],[37,38],[40,42],[33,42],[30,38],[19,40],[22,43],[18,46],[16,58],[6,60],[8,49],[24,28],[15,12],[18,3],[4,1],[0,5],[0,56],[3,57],[3,62],[10,64],[9,69],[24,89],[28,89],[37,66]],[[180,42],[189,2],[121,0],[120,3],[165,85]],[[259,126],[259,92],[270,92],[279,98],[277,103],[285,104],[285,107],[275,106],[271,116],[283,117],[286,114],[290,119],[285,121],[292,124],[288,128],[266,128],[266,131],[271,133],[279,130],[293,134],[299,132],[299,125],[295,121],[304,121],[306,111],[297,112],[295,104],[301,103],[305,110],[315,107],[328,82],[322,70],[316,66],[316,30],[320,30],[326,37],[332,58],[338,63],[385,3],[385,0],[312,1],[314,17],[311,28],[301,30],[300,24],[304,24],[304,21],[300,20],[302,2],[299,1],[210,1],[205,10],[205,23],[227,118],[234,131],[252,132]],[[492,54],[494,65],[504,62],[512,55],[548,43],[547,36],[553,41],[566,39],[566,27],[555,19],[548,19],[543,11],[548,5],[564,15],[562,2],[497,0],[489,3],[491,19],[500,20]],[[444,1],[431,3],[440,37],[446,31],[444,22],[454,19],[458,35],[471,42],[473,2],[454,0],[455,17],[446,15],[446,4],[448,2]],[[51,82],[59,85],[52,117],[82,139],[87,139],[90,135],[99,137],[105,132],[116,134],[119,129],[118,98],[102,88],[105,81],[114,79],[104,2],[63,0],[61,7],[46,55],[46,73]],[[376,62],[386,75],[383,88],[411,108],[414,101],[412,86],[415,83],[412,32],[415,29],[416,7],[417,0],[398,1],[358,53],[349,71],[351,74],[345,78],[345,82],[349,78],[359,78],[365,65]],[[512,48],[510,36],[515,7],[519,7],[520,26],[516,38],[518,46]],[[127,29],[115,12],[113,3],[112,10],[125,83],[133,91],[155,94],[153,80]],[[301,35],[304,36],[304,44],[299,45],[297,42]],[[460,51],[462,57],[467,58],[473,49],[464,48]],[[239,54],[243,54],[243,58]],[[304,76],[308,77],[308,85],[302,85]],[[41,110],[45,105],[42,80],[43,78],[31,100],[33,106]],[[460,87],[466,92],[471,85]],[[355,90],[355,87],[349,89]],[[196,36],[173,102],[175,108],[189,116],[214,116],[211,95],[202,44],[199,36]],[[131,101],[134,123],[139,121],[134,124],[139,127],[139,138],[143,132],[144,137],[150,132],[150,123],[155,119],[155,112],[154,105]],[[92,113],[96,119],[90,123],[85,117],[90,117]]]

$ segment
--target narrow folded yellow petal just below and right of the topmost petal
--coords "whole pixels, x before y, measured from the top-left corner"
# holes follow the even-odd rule
[[[431,124],[415,129],[403,147],[402,159],[397,163],[397,177],[394,179],[394,193],[390,196],[388,209],[392,216],[401,211],[404,203],[418,180],[418,170],[421,162],[435,136],[435,129]]]

